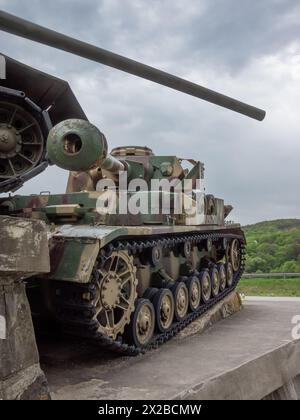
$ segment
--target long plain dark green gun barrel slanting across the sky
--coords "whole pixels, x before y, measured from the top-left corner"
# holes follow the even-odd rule
[[[265,111],[252,105],[248,105],[138,61],[71,38],[4,11],[0,11],[0,29],[22,38],[27,38],[31,41],[67,51],[97,63],[167,86],[171,89],[195,96],[259,121],[262,121],[265,117]]]

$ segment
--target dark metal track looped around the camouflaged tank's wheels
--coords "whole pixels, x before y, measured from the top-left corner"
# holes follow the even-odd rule
[[[67,288],[67,296],[63,295],[63,298],[56,296],[56,310],[57,315],[62,323],[62,329],[64,333],[84,337],[88,340],[96,342],[101,348],[120,353],[127,356],[136,356],[141,353],[145,353],[148,350],[157,348],[161,344],[170,340],[173,336],[178,334],[182,329],[184,329],[188,324],[196,320],[200,315],[207,312],[215,304],[224,299],[225,296],[230,294],[236,287],[239,282],[245,266],[245,239],[243,235],[231,234],[231,233],[210,233],[210,234],[191,234],[191,235],[178,235],[171,236],[164,239],[157,240],[145,240],[145,241],[136,241],[136,240],[125,240],[113,242],[106,246],[100,256],[98,264],[102,264],[105,261],[105,256],[109,256],[113,251],[119,250],[128,250],[130,253],[134,254],[137,251],[142,251],[146,248],[151,248],[157,245],[164,247],[172,247],[174,245],[182,244],[185,241],[189,240],[193,244],[197,244],[200,241],[211,239],[212,241],[227,238],[227,239],[238,239],[241,245],[241,262],[238,271],[234,273],[234,279],[231,287],[226,287],[226,289],[219,293],[215,298],[211,298],[207,304],[201,304],[199,309],[196,312],[191,312],[186,315],[182,321],[175,321],[172,324],[171,329],[168,332],[157,333],[154,335],[152,341],[148,346],[143,348],[135,347],[134,345],[129,345],[122,341],[122,338],[113,340],[110,337],[104,336],[99,331],[97,331],[97,323],[92,320],[93,317],[93,307],[91,304],[86,302],[82,296],[83,294],[90,294],[91,296],[95,295],[95,286],[92,283],[88,284],[75,284],[75,283],[64,283],[60,282],[60,288]]]

